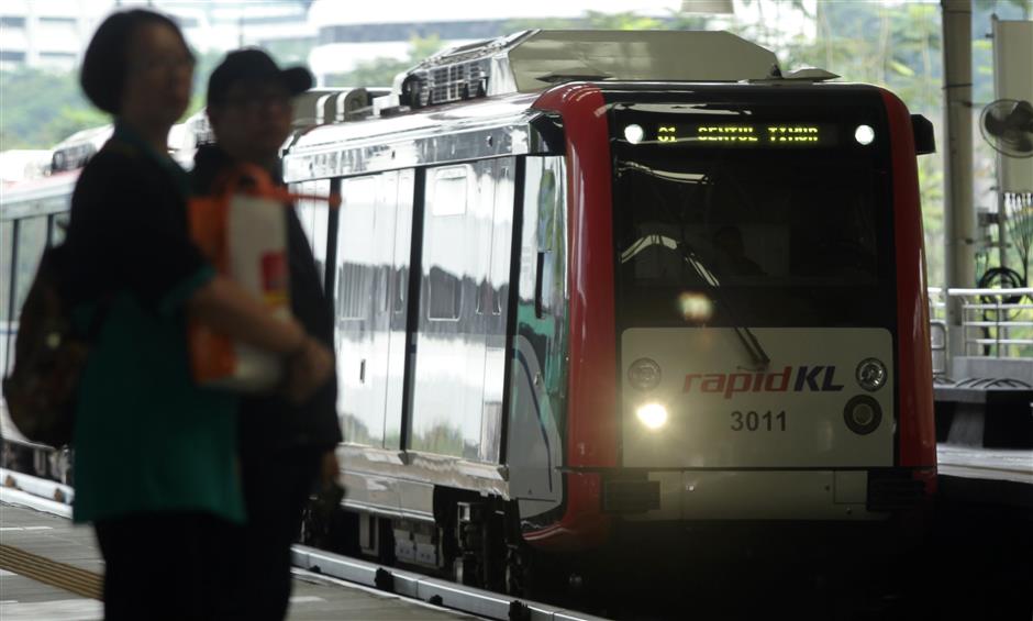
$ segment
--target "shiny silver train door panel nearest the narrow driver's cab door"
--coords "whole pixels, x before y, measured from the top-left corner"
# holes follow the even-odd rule
[[[429,168],[411,448],[497,462],[512,158]]]

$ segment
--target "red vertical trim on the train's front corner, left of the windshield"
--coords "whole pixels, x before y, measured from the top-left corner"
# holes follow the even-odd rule
[[[617,320],[606,101],[598,87],[573,84],[543,93],[534,108],[560,114],[567,144],[570,366],[564,465],[612,467],[618,440]],[[599,475],[565,476],[564,517],[525,539],[549,548],[600,545],[609,519],[601,513]]]

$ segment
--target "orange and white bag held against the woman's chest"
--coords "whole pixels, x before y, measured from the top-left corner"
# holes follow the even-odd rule
[[[187,206],[190,235],[215,270],[255,295],[277,318],[290,318],[287,219],[284,209],[302,197],[276,187],[253,165],[233,170],[218,195],[196,197]],[[332,201],[333,202],[333,201]],[[270,390],[281,381],[278,356],[235,342],[191,321],[190,363],[201,386],[244,392]]]

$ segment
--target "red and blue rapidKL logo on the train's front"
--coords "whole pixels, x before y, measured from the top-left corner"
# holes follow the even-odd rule
[[[719,392],[731,399],[736,392],[838,392],[834,366],[785,367],[781,373],[690,373],[682,392]]]

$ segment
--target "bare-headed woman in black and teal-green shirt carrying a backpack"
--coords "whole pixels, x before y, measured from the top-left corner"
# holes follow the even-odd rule
[[[93,522],[108,619],[211,616],[218,542],[245,519],[236,398],[190,378],[188,318],[288,357],[303,398],[330,353],[215,275],[188,236],[188,181],[167,154],[190,100],[193,56],[164,15],[110,15],[82,63],[86,95],[115,120],[71,206],[69,293],[82,324],[103,313],[76,410],[77,522]]]

